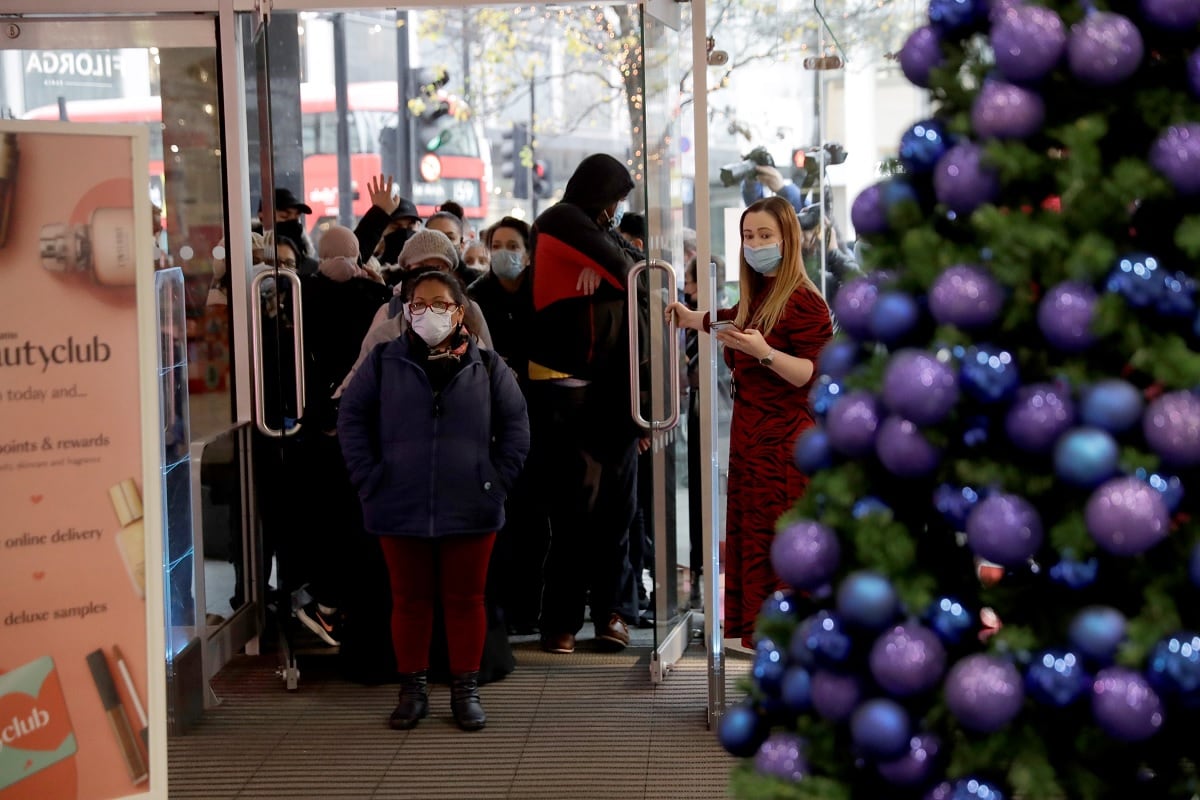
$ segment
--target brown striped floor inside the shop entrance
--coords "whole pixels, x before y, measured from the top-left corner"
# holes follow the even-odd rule
[[[430,718],[397,733],[386,727],[395,686],[322,674],[329,660],[316,658],[289,693],[274,657],[238,657],[215,682],[221,706],[170,740],[170,798],[726,796],[733,759],[706,727],[701,650],[655,686],[646,648],[515,648],[516,672],[481,690],[480,733],[455,727],[445,686]],[[749,661],[727,663],[732,687]]]

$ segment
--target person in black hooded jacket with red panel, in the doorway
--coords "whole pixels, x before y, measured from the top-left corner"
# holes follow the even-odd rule
[[[572,652],[590,604],[596,639],[620,649],[637,619],[629,565],[638,429],[629,413],[625,290],[635,255],[613,229],[632,191],[616,158],[584,158],[532,236],[527,469],[548,498],[541,646]]]

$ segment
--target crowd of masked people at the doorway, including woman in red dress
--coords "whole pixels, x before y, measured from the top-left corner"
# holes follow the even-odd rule
[[[264,510],[264,548],[278,557],[295,618],[326,644],[388,639],[391,661],[377,674],[398,676],[394,728],[428,714],[443,658],[454,718],[476,730],[480,684],[512,668],[508,634],[536,633],[544,650],[565,655],[588,618],[596,645],[612,650],[629,645],[630,626],[653,624],[640,513],[649,439],[629,411],[630,314],[644,320],[626,290],[647,242],[644,217],[625,212],[634,187],[624,164],[593,155],[533,225],[504,217],[476,235],[461,207],[422,221],[378,176],[355,229],[329,225],[317,247],[302,224],[311,211],[276,192],[254,269],[300,276],[306,391],[294,408],[286,381],[264,381],[276,386],[274,422],[300,434],[256,447],[258,477],[301,489],[293,507]],[[691,241],[685,302],[666,313],[688,329],[689,372],[696,337],[713,333],[737,386],[725,630],[750,643],[779,587],[775,521],[804,491],[791,449],[812,425],[808,389],[832,321],[805,270],[797,210],[758,200],[740,229],[737,306],[715,318],[695,308]],[[280,283],[263,282],[275,333],[274,362],[262,368],[282,375],[295,302]],[[692,402],[689,425],[697,420]],[[370,546],[347,546],[354,536]],[[692,539],[698,583],[698,524]],[[384,565],[379,594],[366,561]],[[385,627],[361,624],[372,609]]]

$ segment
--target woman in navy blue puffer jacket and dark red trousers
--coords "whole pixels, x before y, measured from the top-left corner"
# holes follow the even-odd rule
[[[466,305],[454,276],[420,278],[403,308],[408,330],[362,362],[337,416],[364,524],[388,563],[401,673],[389,723],[398,730],[428,714],[436,593],[455,721],[464,730],[487,721],[479,702],[484,587],[504,499],[529,451],[529,420],[512,371],[463,327]]]

